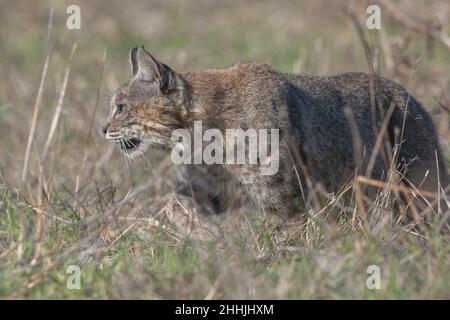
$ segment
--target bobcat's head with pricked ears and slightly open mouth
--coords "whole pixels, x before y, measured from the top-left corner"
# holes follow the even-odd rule
[[[168,145],[173,130],[183,127],[187,84],[144,48],[130,52],[133,77],[111,97],[110,114],[102,131],[128,158],[150,145]]]

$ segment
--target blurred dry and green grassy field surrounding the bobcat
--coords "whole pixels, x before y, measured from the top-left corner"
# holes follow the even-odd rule
[[[135,45],[176,69],[368,71],[348,15],[364,26],[367,3],[77,3],[80,30],[66,28],[72,1],[0,3],[0,298],[450,299],[450,236],[437,221],[419,233],[393,221],[386,190],[369,212],[335,197],[284,226],[257,208],[198,220],[172,194],[167,154],[128,165],[100,132]],[[450,31],[448,1],[397,3]],[[450,51],[383,11],[382,27],[364,28],[377,71],[426,105],[450,167]]]

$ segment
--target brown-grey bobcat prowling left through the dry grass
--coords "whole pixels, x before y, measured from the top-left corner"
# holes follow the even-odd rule
[[[178,192],[216,212],[244,194],[264,209],[293,214],[311,203],[311,189],[338,191],[357,171],[386,177],[398,148],[404,183],[436,191],[449,182],[433,122],[402,86],[364,73],[329,77],[284,74],[268,64],[175,72],[144,48],[130,52],[132,78],[112,97],[102,131],[130,158],[149,146],[173,146],[172,132],[215,128],[279,129],[280,165],[187,165]],[[376,149],[379,132],[386,139]],[[248,150],[247,150],[248,151]],[[372,159],[370,160],[370,158]],[[303,206],[302,206],[303,205]]]

